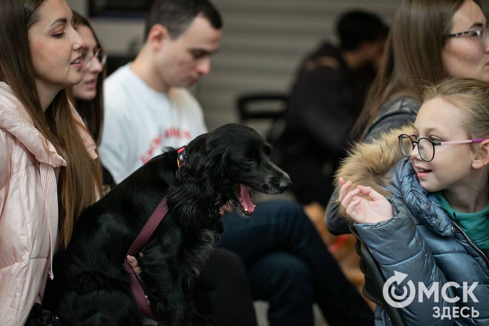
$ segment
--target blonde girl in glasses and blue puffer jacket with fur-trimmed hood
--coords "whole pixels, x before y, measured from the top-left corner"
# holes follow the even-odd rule
[[[338,200],[408,325],[489,325],[489,84],[427,87],[411,129],[356,146]]]

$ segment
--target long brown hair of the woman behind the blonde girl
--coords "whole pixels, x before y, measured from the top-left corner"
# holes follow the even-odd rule
[[[479,0],[473,0],[479,7]],[[442,62],[445,35],[452,17],[465,0],[404,0],[400,4],[385,43],[384,57],[370,87],[365,105],[353,128],[360,139],[380,107],[396,96],[421,102],[426,84],[448,77]]]

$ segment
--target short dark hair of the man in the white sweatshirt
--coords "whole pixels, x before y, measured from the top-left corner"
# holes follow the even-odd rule
[[[172,39],[178,38],[201,14],[216,29],[222,28],[219,11],[208,0],[156,0],[146,18],[144,38],[155,24],[166,27]]]

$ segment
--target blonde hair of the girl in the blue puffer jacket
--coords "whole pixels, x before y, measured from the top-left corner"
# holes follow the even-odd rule
[[[489,84],[472,78],[446,78],[424,89],[422,100],[440,98],[459,108],[459,121],[471,139],[489,138]],[[474,149],[477,145],[472,143]]]

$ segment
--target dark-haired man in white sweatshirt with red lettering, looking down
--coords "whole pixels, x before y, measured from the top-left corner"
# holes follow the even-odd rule
[[[156,1],[145,35],[135,60],[104,83],[99,152],[115,183],[165,147],[181,147],[207,132],[186,87],[210,71],[222,36],[219,13],[207,1]]]

